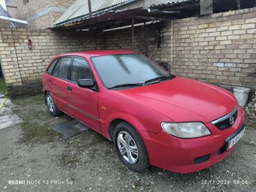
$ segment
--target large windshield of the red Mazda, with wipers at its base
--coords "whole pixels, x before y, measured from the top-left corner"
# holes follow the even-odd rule
[[[93,65],[106,88],[122,84],[144,84],[149,79],[170,76],[140,54],[92,57]]]

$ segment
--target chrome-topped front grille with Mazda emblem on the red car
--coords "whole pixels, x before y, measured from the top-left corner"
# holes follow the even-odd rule
[[[212,124],[214,124],[214,126],[217,126],[219,130],[229,128],[230,126],[232,126],[232,124],[235,123],[237,119],[237,114],[238,114],[238,111],[236,106],[233,111],[228,113],[228,115],[225,115],[219,119],[212,121]]]

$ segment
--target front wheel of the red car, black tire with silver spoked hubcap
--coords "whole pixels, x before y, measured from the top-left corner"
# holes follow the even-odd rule
[[[122,164],[125,164],[131,171],[139,173],[149,167],[147,149],[133,126],[127,122],[121,122],[116,126],[113,135],[116,153],[118,153]],[[126,140],[128,142],[125,142]],[[138,152],[138,155],[136,155],[136,152]]]

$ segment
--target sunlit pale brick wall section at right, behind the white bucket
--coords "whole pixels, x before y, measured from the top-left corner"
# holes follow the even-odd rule
[[[172,72],[221,86],[256,89],[256,8],[174,20],[161,58]]]

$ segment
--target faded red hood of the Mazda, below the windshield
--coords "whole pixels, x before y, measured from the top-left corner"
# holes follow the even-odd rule
[[[183,77],[115,92],[162,113],[174,122],[207,123],[230,113],[237,105],[228,90]]]

